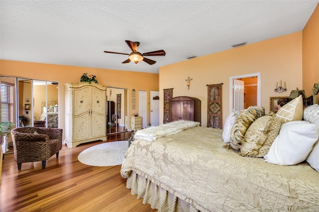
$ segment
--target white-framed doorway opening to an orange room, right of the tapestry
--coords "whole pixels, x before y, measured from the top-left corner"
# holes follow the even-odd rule
[[[260,73],[255,74],[247,74],[247,75],[240,75],[240,76],[233,76],[229,78],[229,111],[230,113],[235,111],[235,108],[238,108],[235,103],[235,81],[241,80],[244,81],[244,96],[243,106],[247,108],[248,106],[261,106],[261,79],[260,79]],[[245,85],[246,82],[246,85]],[[253,83],[251,83],[253,82]],[[246,93],[245,93],[246,92]],[[249,100],[249,101],[248,101]],[[254,104],[256,103],[256,104]]]

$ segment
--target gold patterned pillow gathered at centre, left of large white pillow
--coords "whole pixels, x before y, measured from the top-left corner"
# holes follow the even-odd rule
[[[281,127],[281,122],[274,112],[257,118],[247,129],[240,148],[241,156],[264,157]]]

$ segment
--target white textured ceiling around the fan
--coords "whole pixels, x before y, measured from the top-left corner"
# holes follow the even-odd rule
[[[0,0],[0,59],[159,73],[159,67],[303,30],[319,0]],[[122,64],[125,40],[166,56]]]

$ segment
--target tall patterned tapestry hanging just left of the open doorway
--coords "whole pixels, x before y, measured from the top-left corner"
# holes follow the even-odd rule
[[[223,128],[222,85],[207,85],[207,127]]]

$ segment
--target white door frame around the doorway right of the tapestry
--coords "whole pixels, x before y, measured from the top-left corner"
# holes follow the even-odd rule
[[[240,78],[248,78],[248,77],[257,77],[257,106],[261,106],[261,75],[260,73],[254,73],[254,74],[245,74],[245,75],[239,75],[239,76],[233,76],[229,77],[229,114],[233,112],[233,88],[234,88],[234,80],[240,79]]]

